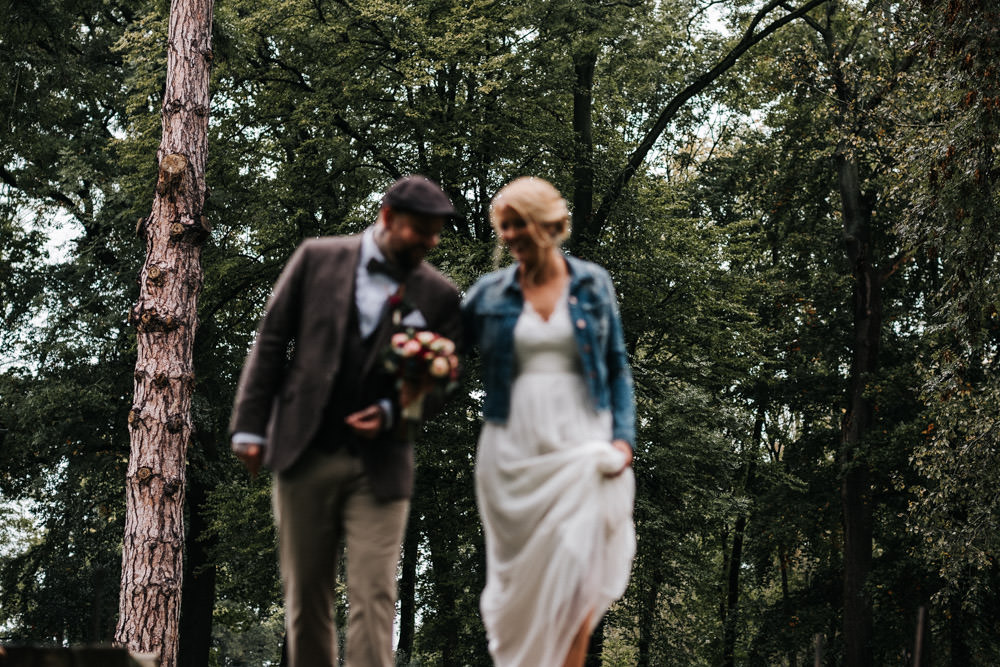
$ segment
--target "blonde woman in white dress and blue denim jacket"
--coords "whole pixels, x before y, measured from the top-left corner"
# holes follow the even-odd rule
[[[632,374],[607,272],[560,250],[559,192],[519,178],[490,218],[516,261],[463,304],[486,389],[480,610],[496,665],[579,667],[635,554]]]

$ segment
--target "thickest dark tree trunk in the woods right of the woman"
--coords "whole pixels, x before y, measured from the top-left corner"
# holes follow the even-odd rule
[[[857,163],[838,151],[847,256],[854,276],[854,337],[847,412],[841,430],[841,505],[844,521],[844,664],[872,664],[872,607],[865,581],[872,564],[872,485],[865,438],[874,409],[866,385],[878,368],[882,278],[871,247],[872,203],[861,189]]]

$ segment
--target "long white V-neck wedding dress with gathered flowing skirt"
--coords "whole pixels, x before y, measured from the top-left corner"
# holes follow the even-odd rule
[[[509,419],[483,426],[476,460],[480,610],[496,665],[558,667],[587,614],[595,626],[625,591],[635,478],[605,475],[625,455],[592,407],[565,294],[548,321],[525,304],[514,347]]]

